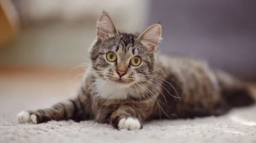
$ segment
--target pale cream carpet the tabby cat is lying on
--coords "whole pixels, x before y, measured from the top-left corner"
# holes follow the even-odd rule
[[[0,143],[256,143],[256,106],[233,109],[220,117],[152,121],[135,131],[118,131],[93,121],[17,123],[20,111],[49,107],[72,95],[67,95],[73,92],[70,88],[60,85],[57,81],[0,82]]]

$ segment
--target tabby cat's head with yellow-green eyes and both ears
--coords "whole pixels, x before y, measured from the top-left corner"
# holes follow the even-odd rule
[[[99,71],[99,78],[128,87],[138,81],[138,74],[154,70],[154,53],[161,39],[159,23],[142,34],[118,31],[107,13],[103,13],[97,23],[97,38],[89,51],[92,67]]]

